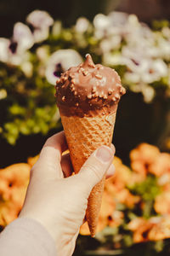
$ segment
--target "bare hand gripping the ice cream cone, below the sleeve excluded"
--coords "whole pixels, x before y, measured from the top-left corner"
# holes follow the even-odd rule
[[[114,146],[111,148],[102,146],[95,150],[81,171],[71,176],[69,154],[61,155],[67,149],[65,134],[59,132],[48,138],[31,169],[20,218],[40,222],[54,238],[58,255],[69,256],[74,251],[88,196],[105,172],[113,171]]]

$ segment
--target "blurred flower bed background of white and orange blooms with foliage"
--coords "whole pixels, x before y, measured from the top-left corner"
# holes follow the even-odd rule
[[[99,235],[89,238],[83,226],[76,253],[169,253],[169,17],[167,0],[0,1],[2,229],[20,212],[43,143],[62,130],[54,84],[89,53],[116,69],[127,94],[116,118],[116,175],[105,185]]]

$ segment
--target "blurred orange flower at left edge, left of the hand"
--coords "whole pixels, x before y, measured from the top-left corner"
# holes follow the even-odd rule
[[[18,217],[29,183],[31,166],[14,164],[0,170],[0,225],[9,224]]]

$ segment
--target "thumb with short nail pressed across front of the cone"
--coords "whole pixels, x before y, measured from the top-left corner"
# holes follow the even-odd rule
[[[102,177],[104,177],[105,172],[107,172],[111,166],[114,154],[115,149],[113,150],[107,146],[101,146],[96,149],[84,163],[77,176],[88,193],[90,193],[94,185],[99,183]]]

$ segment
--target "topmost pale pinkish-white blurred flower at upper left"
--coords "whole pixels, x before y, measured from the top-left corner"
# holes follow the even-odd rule
[[[49,26],[54,24],[53,18],[46,11],[34,10],[26,17],[26,21],[31,25],[33,37],[36,43],[40,43],[48,38]]]

